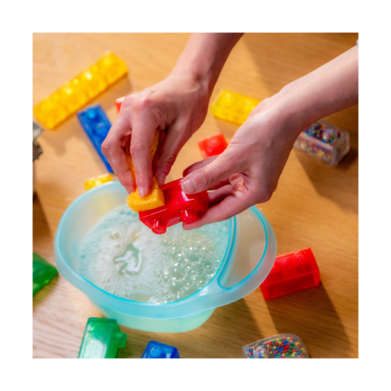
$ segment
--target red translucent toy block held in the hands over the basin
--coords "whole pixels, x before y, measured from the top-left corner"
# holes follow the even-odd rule
[[[207,211],[209,205],[208,192],[202,191],[189,196],[180,187],[182,179],[173,180],[173,182],[164,184],[162,187],[164,207],[138,213],[140,221],[146,227],[152,229],[153,233],[162,234],[166,232],[167,227],[181,221],[186,224],[196,222],[202,213]]]

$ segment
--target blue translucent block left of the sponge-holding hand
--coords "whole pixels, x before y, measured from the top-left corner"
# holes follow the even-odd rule
[[[79,118],[80,124],[82,124],[84,131],[86,131],[91,142],[95,146],[97,153],[106,165],[108,172],[113,173],[113,169],[106,159],[106,156],[102,153],[102,142],[106,138],[108,131],[110,131],[111,123],[108,120],[106,113],[103,111],[100,104],[94,104],[88,106],[84,110],[77,112],[77,118]]]

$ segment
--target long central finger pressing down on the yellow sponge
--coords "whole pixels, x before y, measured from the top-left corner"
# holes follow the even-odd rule
[[[148,196],[151,192],[151,145],[158,126],[159,120],[155,113],[148,113],[140,108],[136,110],[132,123],[131,156],[140,197]]]

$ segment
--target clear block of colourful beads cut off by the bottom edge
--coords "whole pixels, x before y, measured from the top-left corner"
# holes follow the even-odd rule
[[[309,360],[301,338],[294,334],[277,334],[242,347],[247,360]]]

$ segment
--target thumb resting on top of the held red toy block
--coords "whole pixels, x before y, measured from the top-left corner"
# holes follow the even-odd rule
[[[182,190],[186,194],[209,190],[221,180],[240,172],[236,159],[225,150],[216,160],[187,175],[182,181]]]

